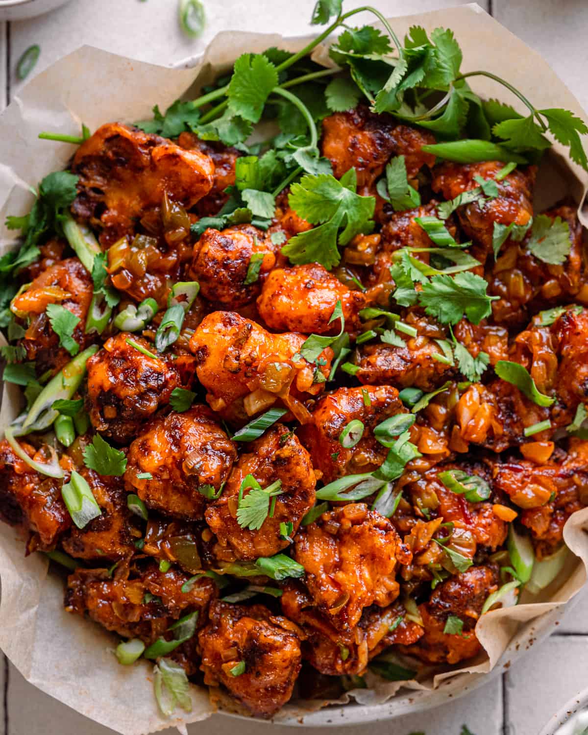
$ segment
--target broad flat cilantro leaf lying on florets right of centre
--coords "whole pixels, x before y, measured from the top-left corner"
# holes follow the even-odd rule
[[[457,273],[432,276],[423,283],[418,301],[426,313],[442,324],[456,324],[465,315],[470,322],[479,324],[492,313],[491,301],[495,296],[486,293],[487,282],[475,273]]]

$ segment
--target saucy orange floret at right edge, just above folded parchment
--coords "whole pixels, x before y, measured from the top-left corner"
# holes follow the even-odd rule
[[[549,556],[570,515],[588,505],[588,442],[572,438],[567,452],[556,448],[548,461],[509,459],[494,471],[495,486],[523,509],[520,521],[531,531],[537,557]]]

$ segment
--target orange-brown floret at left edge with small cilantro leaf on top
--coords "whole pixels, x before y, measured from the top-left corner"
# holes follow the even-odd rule
[[[71,360],[69,352],[59,346],[59,337],[46,313],[47,306],[60,304],[79,319],[71,336],[83,348],[89,342],[84,330],[92,293],[90,273],[77,258],[68,258],[43,270],[26,291],[12,301],[12,312],[30,320],[22,344],[26,359],[35,361],[38,375],[46,370],[60,370]]]

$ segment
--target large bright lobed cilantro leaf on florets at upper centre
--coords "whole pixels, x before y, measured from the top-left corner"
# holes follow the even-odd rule
[[[301,265],[319,262],[327,270],[340,262],[339,245],[360,232],[371,231],[375,198],[356,194],[356,173],[351,168],[340,181],[330,174],[303,176],[293,184],[288,201],[296,214],[320,226],[291,237],[282,248],[290,261]],[[343,227],[343,232],[339,232]]]

